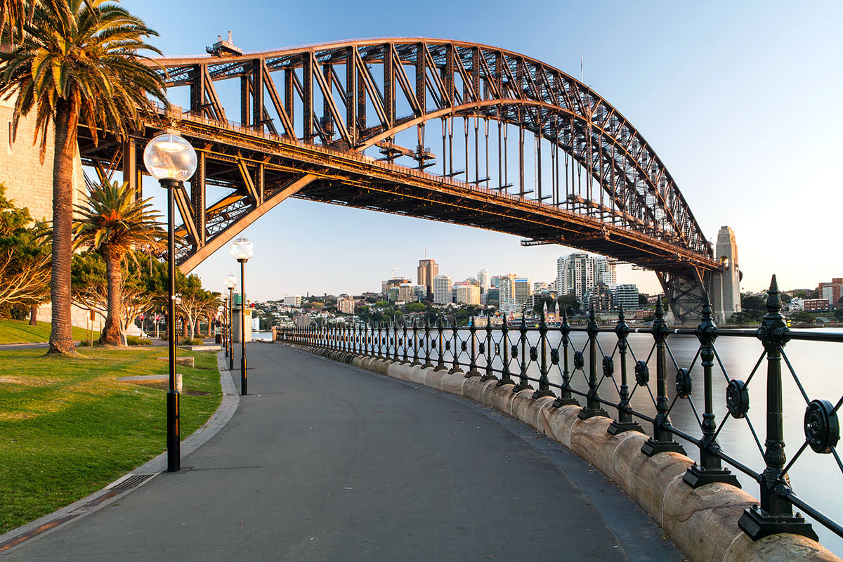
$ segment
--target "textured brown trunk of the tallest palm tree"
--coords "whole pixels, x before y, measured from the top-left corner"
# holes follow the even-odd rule
[[[70,262],[72,258],[73,159],[78,115],[70,104],[56,101],[56,151],[53,154],[52,255],[50,301],[52,325],[49,353],[76,353],[71,327]]]

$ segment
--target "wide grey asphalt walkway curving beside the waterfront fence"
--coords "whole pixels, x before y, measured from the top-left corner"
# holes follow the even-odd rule
[[[6,559],[683,559],[599,472],[507,416],[281,345],[248,353],[250,395],[180,473]]]

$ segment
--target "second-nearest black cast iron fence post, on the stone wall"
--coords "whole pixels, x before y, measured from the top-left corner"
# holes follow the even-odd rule
[[[702,392],[705,399],[705,411],[702,413],[700,463],[694,463],[693,466],[688,468],[683,480],[691,488],[699,488],[702,485],[711,484],[712,482],[723,482],[740,488],[738,478],[728,468],[722,468],[720,458],[716,454],[713,454],[720,450],[720,446],[714,439],[714,434],[717,432],[717,422],[715,421],[714,398],[711,388],[711,370],[714,367],[714,340],[717,339],[717,326],[711,318],[711,303],[708,302],[707,292],[702,304],[702,321],[696,328],[696,338],[700,340],[700,360],[703,377]],[[676,385],[677,391],[681,390],[685,393],[685,396],[690,395],[690,373],[676,373]]]

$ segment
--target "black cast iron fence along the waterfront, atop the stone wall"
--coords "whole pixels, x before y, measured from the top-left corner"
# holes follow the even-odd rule
[[[840,438],[838,412],[843,405],[843,396],[833,404],[824,399],[810,399],[785,351],[790,340],[843,344],[843,334],[788,329],[780,313],[781,301],[775,276],[766,308],[764,320],[755,330],[717,329],[711,317],[711,306],[706,301],[703,319],[696,329],[669,329],[659,302],[655,320],[648,328],[631,328],[621,310],[620,319],[614,327],[600,327],[593,312],[586,325],[568,324],[563,315],[561,323],[550,326],[545,323],[545,314],[542,313],[538,323],[531,322],[530,325],[524,315],[514,324],[507,324],[504,317],[498,327],[492,327],[489,318],[483,326],[474,321],[469,327],[445,326],[440,318],[435,325],[416,321],[400,327],[397,324],[322,324],[319,327],[313,324],[310,328],[276,329],[275,337],[291,344],[433,367],[450,373],[464,372],[466,378],[497,379],[497,386],[513,385],[515,392],[534,390],[533,399],[555,397],[553,406],[556,408],[579,405],[577,399],[582,399],[585,406],[580,410],[579,418],[609,417],[606,411],[609,409],[615,413],[609,433],[647,433],[649,438],[641,449],[644,455],[652,456],[659,452],[685,454],[676,438],[694,447],[692,454],[696,453],[698,462],[688,468],[683,478],[685,484],[693,488],[716,482],[740,487],[736,475],[723,463],[757,482],[760,503],[744,510],[738,521],[738,526],[749,538],[757,540],[775,533],[795,533],[818,540],[811,524],[805,522],[798,512],[794,514],[794,507],[843,538],[840,522],[797,495],[787,474],[794,463],[809,463],[811,452],[833,457],[843,473],[843,463],[837,450]],[[629,345],[628,336],[633,333],[652,336],[652,346],[646,356],[642,356],[640,348],[636,354]],[[572,335],[576,334],[586,336],[581,344],[574,343]],[[601,342],[601,334],[614,335],[610,351],[604,347],[605,337]],[[689,364],[682,366],[674,357],[669,342],[669,336],[673,335],[692,335],[698,340],[699,347]],[[758,361],[745,379],[731,376],[717,352],[717,340],[734,338],[760,340],[763,347]],[[655,388],[652,388],[650,372],[653,357]],[[782,369],[782,360],[785,369]],[[765,369],[762,367],[764,363]],[[668,394],[670,367],[675,370],[675,392]],[[765,383],[752,384],[756,377],[764,378],[759,374],[764,370]],[[703,381],[701,397],[695,383],[692,383],[692,375],[700,371]],[[804,440],[789,461],[784,443],[783,372],[793,378],[806,404],[803,413]],[[577,377],[583,377],[587,388],[576,388],[574,381]],[[718,420],[716,410],[719,408],[715,407],[714,396],[715,379],[720,377],[727,384],[726,411]],[[609,389],[615,399],[600,395],[601,391]],[[718,384],[717,390],[721,389]],[[639,393],[637,399],[636,393]],[[641,393],[648,398],[643,403]],[[756,425],[758,420],[753,423],[749,415],[750,398],[752,402],[760,400],[760,396],[756,396],[760,393],[765,393],[767,404],[763,428]],[[702,404],[697,403],[700,399]],[[648,404],[651,408],[633,407],[636,400],[637,404]],[[687,404],[692,410],[697,431],[685,431],[671,423],[670,415],[679,404]],[[743,460],[745,451],[740,450],[737,442],[721,444],[718,440],[724,426],[741,421],[749,427],[760,452],[760,467],[757,469]],[[763,446],[759,437],[762,430],[765,436]],[[730,450],[730,447],[733,448]],[[828,490],[840,490],[839,481],[825,484]]]

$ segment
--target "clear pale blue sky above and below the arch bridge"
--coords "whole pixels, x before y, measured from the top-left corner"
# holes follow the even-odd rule
[[[427,36],[518,51],[578,76],[657,151],[710,240],[733,227],[746,290],[816,287],[843,276],[843,3],[126,0],[167,56],[234,33],[244,51],[365,37]],[[145,195],[158,188],[145,184]],[[561,246],[305,201],[244,231],[255,242],[250,298],[379,290],[418,260],[464,279],[486,268],[552,281]],[[223,248],[195,270],[222,288]],[[619,282],[660,288],[621,266]]]

